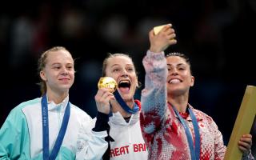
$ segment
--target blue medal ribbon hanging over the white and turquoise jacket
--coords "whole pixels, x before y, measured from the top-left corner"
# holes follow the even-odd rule
[[[43,160],[54,160],[57,155],[58,151],[62,146],[62,141],[64,138],[64,135],[66,133],[66,127],[70,119],[70,102],[67,103],[65,114],[63,116],[62,120],[62,126],[59,130],[58,137],[56,139],[56,142],[54,144],[54,148],[51,151],[50,157],[49,157],[49,122],[48,122],[48,103],[46,94],[42,97],[42,152],[43,152]]]

